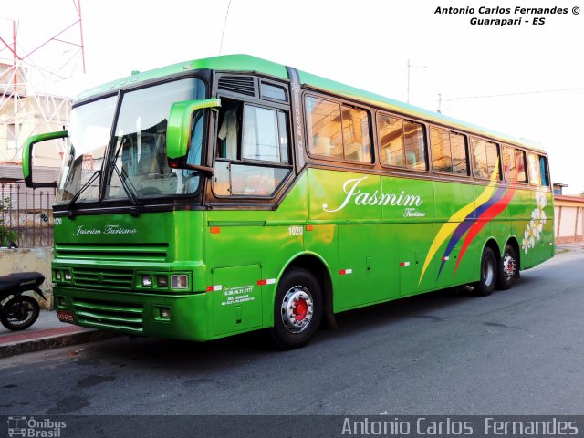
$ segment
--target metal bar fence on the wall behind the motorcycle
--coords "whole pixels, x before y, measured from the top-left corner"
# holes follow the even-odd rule
[[[56,189],[0,183],[0,247],[52,246],[55,194]]]

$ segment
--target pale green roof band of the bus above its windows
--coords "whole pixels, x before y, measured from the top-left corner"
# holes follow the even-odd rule
[[[260,57],[252,57],[249,55],[226,55],[221,57],[196,59],[193,61],[173,64],[167,67],[138,72],[132,74],[129,77],[120,78],[119,80],[111,81],[93,89],[83,91],[78,95],[77,99],[89,99],[94,95],[106,93],[108,91],[115,91],[128,85],[138,84],[156,78],[164,78],[166,76],[176,75],[185,71],[201,68],[218,71],[246,71],[268,75],[275,78],[288,78],[287,68],[284,65],[276,64],[275,62],[268,61]],[[539,151],[543,150],[541,144],[537,143],[536,141],[518,139],[507,134],[496,132],[495,130],[489,130],[481,126],[474,125],[473,123],[444,116],[438,112],[424,110],[422,108],[400,102],[399,100],[389,99],[370,91],[350,87],[349,85],[341,84],[331,79],[321,78],[311,73],[304,71],[299,71],[298,73],[300,75],[300,81],[304,86],[328,91],[340,96],[345,96],[349,99],[360,100],[362,102],[369,103],[370,105],[399,112],[412,118],[427,120],[433,123],[449,126],[457,130],[473,132],[478,135],[495,138],[499,141],[506,141],[522,146],[527,146],[528,148]]]

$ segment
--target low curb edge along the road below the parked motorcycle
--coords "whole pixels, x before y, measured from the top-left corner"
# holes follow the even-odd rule
[[[49,329],[47,331],[53,330]],[[42,335],[40,332],[38,334]],[[16,356],[17,354],[42,351],[45,349],[59,349],[61,347],[68,347],[69,345],[95,342],[98,340],[110,339],[119,336],[120,333],[116,332],[94,330],[91,328],[79,328],[79,330],[76,330],[76,332],[65,335],[54,334],[52,336],[41,336],[36,339],[26,339],[22,341],[10,342],[4,345],[0,344],[0,359]]]

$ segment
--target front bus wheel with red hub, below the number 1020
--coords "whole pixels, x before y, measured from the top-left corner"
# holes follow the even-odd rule
[[[290,268],[280,279],[274,300],[272,339],[280,349],[308,344],[322,319],[322,291],[317,279],[301,267]]]

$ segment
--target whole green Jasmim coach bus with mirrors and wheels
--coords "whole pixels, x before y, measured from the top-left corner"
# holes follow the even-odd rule
[[[60,179],[34,183],[56,139]],[[89,89],[23,170],[58,188],[58,318],[131,335],[292,349],[335,313],[489,295],[554,254],[536,144],[245,55]]]

